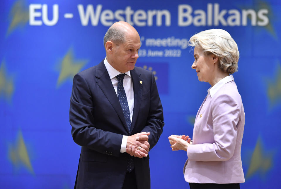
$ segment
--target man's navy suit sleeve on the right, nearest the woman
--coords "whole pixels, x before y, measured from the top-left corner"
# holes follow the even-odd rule
[[[146,126],[141,132],[150,132],[148,142],[150,149],[153,148],[163,132],[164,117],[163,107],[156,86],[156,81],[151,72],[151,88],[150,88],[150,107],[147,117]]]

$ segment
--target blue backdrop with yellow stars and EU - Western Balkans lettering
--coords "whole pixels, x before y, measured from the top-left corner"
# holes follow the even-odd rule
[[[168,136],[192,135],[210,85],[191,69],[187,41],[213,28],[228,31],[240,51],[241,188],[279,188],[280,1],[6,0],[0,9],[2,188],[73,188],[80,147],[69,124],[72,79],[105,58],[103,36],[119,20],[139,32],[136,66],[154,72],[164,108],[163,134],[149,152],[151,188],[189,187],[186,153],[172,152]]]

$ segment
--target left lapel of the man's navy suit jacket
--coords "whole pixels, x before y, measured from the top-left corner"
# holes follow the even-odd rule
[[[104,65],[103,61],[101,63],[99,63],[98,66],[97,66],[96,78],[98,78],[97,79],[98,86],[101,88],[104,95],[106,96],[106,98],[108,99],[110,104],[113,106],[117,115],[121,119],[124,127],[126,128],[126,130],[129,133],[129,129],[128,129],[127,124],[126,124],[125,117],[124,117],[119,99],[116,95],[116,92],[114,90],[114,87],[112,85],[112,82],[110,80],[109,74],[108,74],[108,72],[105,68],[105,65]]]

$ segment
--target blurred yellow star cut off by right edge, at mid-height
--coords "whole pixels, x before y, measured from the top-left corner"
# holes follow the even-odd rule
[[[277,64],[276,75],[267,80],[267,96],[270,100],[270,108],[281,102],[281,67]]]

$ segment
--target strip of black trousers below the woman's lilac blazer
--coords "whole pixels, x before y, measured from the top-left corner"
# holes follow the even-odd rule
[[[214,183],[189,183],[190,189],[240,189],[240,183],[214,184]]]

